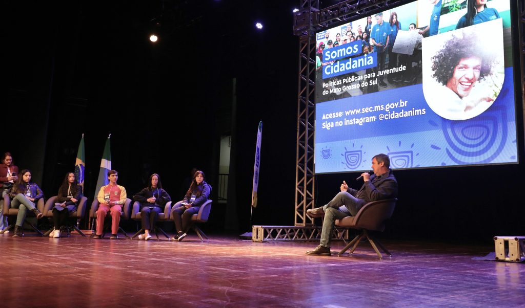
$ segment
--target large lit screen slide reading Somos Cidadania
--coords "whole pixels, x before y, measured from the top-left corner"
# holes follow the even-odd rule
[[[317,33],[315,172],[517,163],[510,5],[420,0]]]

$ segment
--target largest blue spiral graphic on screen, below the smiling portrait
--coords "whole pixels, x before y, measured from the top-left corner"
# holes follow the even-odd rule
[[[443,119],[448,157],[457,164],[488,163],[498,157],[507,142],[507,113],[493,106],[468,121]]]

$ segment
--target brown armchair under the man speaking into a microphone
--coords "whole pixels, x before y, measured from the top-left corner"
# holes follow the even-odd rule
[[[370,245],[374,248],[377,256],[383,258],[381,252],[377,249],[379,246],[388,257],[392,257],[392,254],[386,250],[386,248],[380,243],[379,240],[369,234],[369,231],[380,231],[383,232],[385,229],[385,221],[392,217],[394,207],[397,199],[386,199],[380,201],[373,201],[366,203],[359,210],[355,216],[344,217],[343,219],[337,219],[335,225],[343,228],[362,230],[362,233],[357,235],[348,245],[346,245],[339,253],[338,256],[344,254],[352,245],[350,254],[352,254],[355,248],[359,245],[361,240],[366,237],[370,241]],[[377,245],[377,246],[376,246]]]

